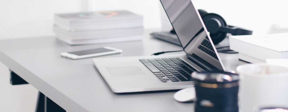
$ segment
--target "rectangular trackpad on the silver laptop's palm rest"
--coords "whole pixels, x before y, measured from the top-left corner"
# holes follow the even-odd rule
[[[110,67],[106,68],[111,76],[132,76],[144,75],[145,73],[137,66],[130,67]]]

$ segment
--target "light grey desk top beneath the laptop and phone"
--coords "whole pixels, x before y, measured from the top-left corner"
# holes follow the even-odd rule
[[[173,99],[176,90],[115,94],[94,67],[93,58],[71,60],[60,56],[62,52],[103,46],[123,50],[121,54],[105,57],[142,56],[182,49],[151,38],[149,36],[151,31],[153,30],[145,31],[143,41],[81,46],[69,46],[55,37],[2,40],[0,41],[0,61],[69,112],[194,110],[194,103],[179,103]],[[165,55],[179,53],[184,52]],[[238,60],[238,54],[220,54],[220,58],[228,70],[235,70],[238,65],[245,63]]]

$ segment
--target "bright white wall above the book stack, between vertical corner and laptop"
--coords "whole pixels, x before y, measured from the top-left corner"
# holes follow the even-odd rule
[[[144,16],[145,28],[160,28],[159,0],[90,0],[92,11],[128,10]]]

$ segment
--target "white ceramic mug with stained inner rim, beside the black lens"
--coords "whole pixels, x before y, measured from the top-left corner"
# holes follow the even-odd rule
[[[240,111],[252,112],[258,105],[288,104],[288,68],[268,64],[237,67],[240,75]]]

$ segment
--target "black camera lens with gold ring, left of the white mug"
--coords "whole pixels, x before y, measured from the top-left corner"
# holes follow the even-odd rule
[[[195,112],[238,112],[239,76],[230,72],[201,72],[195,79]]]

